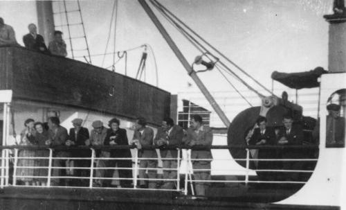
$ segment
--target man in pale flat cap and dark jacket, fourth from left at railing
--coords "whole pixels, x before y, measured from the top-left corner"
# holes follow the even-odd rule
[[[76,118],[73,119],[72,125],[73,128],[70,129],[69,136],[70,139],[68,140],[67,144],[75,145],[75,146],[86,146],[86,140],[89,139],[89,130],[87,128],[82,127],[83,120]],[[91,151],[90,150],[73,150],[72,151],[72,157],[91,157]],[[76,167],[90,167],[90,160],[88,159],[76,159],[75,161]],[[79,177],[89,177],[90,171],[85,169],[77,169],[76,175]],[[88,180],[80,180],[80,184],[85,186],[89,182]]]

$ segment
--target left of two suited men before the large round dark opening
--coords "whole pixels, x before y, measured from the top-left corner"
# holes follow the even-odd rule
[[[253,135],[251,136],[250,141],[248,141],[249,145],[257,145],[257,146],[266,146],[275,144],[275,132],[272,128],[268,128],[266,126],[266,118],[264,116],[258,117],[257,121],[258,128],[255,128],[253,131]],[[271,159],[275,158],[273,155],[273,150],[268,149],[260,149],[257,153],[258,159]],[[273,168],[272,161],[258,161],[257,169],[258,170],[270,170]],[[265,171],[257,171],[256,172],[259,180],[271,180],[271,172]]]

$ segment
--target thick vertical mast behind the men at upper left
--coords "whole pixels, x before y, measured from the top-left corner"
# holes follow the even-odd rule
[[[48,46],[54,35],[53,1],[36,1],[36,9],[39,34]]]

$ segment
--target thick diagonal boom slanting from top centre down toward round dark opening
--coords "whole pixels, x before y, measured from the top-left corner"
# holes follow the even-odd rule
[[[215,99],[212,97],[212,94],[210,94],[210,92],[208,91],[206,86],[203,85],[203,83],[201,82],[201,79],[199,78],[199,76],[197,76],[196,71],[194,71],[192,69],[188,60],[186,60],[183,53],[181,53],[178,46],[176,46],[176,44],[174,43],[174,41],[172,40],[170,35],[167,33],[167,31],[165,30],[165,28],[163,27],[161,22],[158,20],[158,18],[156,17],[156,15],[152,11],[152,9],[149,8],[149,6],[145,2],[145,0],[138,0],[138,1],[139,1],[140,5],[143,7],[143,9],[145,10],[145,12],[147,12],[147,15],[150,17],[150,19],[152,19],[153,23],[155,24],[156,28],[158,28],[161,35],[163,35],[163,38],[166,40],[167,44],[170,46],[170,48],[172,49],[172,51],[174,52],[176,57],[179,59],[181,64],[183,64],[183,67],[185,68],[185,70],[188,71],[188,74],[190,75],[192,80],[194,80],[196,85],[201,90],[202,94],[206,97],[206,99],[208,100],[208,102],[210,103],[212,108],[215,110],[215,112],[217,113],[217,115],[219,116],[221,121],[228,128],[230,125],[230,121],[228,120],[228,117],[226,116],[224,111],[221,110],[221,107],[219,107],[219,105],[217,104]]]

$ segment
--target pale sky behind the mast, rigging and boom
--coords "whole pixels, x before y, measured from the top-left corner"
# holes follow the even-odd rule
[[[331,13],[332,0],[159,2],[268,89],[271,89],[273,71],[308,71],[319,66],[328,68],[328,23],[322,15]],[[53,3],[53,6],[55,12],[62,10],[62,1]],[[67,6],[73,10],[77,6],[76,1],[67,1]],[[113,0],[80,1],[80,7],[91,55],[104,53],[109,26],[114,26],[114,23],[111,23]],[[156,10],[154,11],[183,55],[192,63],[194,58],[200,55],[199,51],[183,39]],[[138,1],[118,0],[116,13],[116,51],[149,44],[158,67],[158,87],[173,94],[198,91]],[[80,21],[78,13],[70,15],[72,23]],[[22,36],[27,33],[28,24],[37,24],[35,1],[0,1],[0,17],[3,17],[6,24],[15,28],[17,41],[23,44]],[[55,24],[64,22],[64,18],[64,14],[55,15]],[[68,37],[65,29],[63,28],[64,37]],[[81,28],[77,27],[73,31],[75,35],[82,32]],[[108,52],[113,51],[113,31],[112,28]],[[69,41],[65,41],[69,45]],[[73,45],[74,49],[85,47],[83,42],[75,42]],[[85,51],[83,53],[86,55]],[[128,52],[129,76],[136,75],[142,53],[143,49]],[[102,56],[93,57],[92,62],[100,66]],[[112,56],[109,55],[103,67],[110,67],[111,64]],[[153,55],[149,52],[146,80],[152,85],[156,85],[154,66]],[[235,70],[232,66],[230,68]],[[125,73],[123,60],[116,64],[116,71]],[[199,76],[212,92],[233,90],[216,70],[199,73]],[[238,89],[246,90],[234,78],[229,79]],[[253,84],[250,80],[244,79]],[[192,85],[188,85],[189,83]],[[284,88],[277,82],[275,87],[279,88],[280,92]]]

